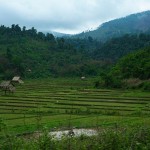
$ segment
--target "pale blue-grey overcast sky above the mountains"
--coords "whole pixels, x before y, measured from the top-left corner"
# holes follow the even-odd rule
[[[146,10],[150,0],[0,0],[0,24],[74,34]]]

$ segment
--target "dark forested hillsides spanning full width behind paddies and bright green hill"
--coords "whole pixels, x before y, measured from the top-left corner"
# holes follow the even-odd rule
[[[0,79],[98,76],[122,56],[150,45],[150,35],[125,35],[101,43],[93,38],[55,38],[19,25],[0,27]]]

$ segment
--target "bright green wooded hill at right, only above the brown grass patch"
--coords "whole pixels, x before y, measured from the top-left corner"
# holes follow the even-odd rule
[[[121,79],[150,78],[150,47],[128,54],[119,60],[111,71],[112,76]]]

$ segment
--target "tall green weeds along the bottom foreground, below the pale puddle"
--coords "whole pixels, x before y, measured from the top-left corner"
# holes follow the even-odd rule
[[[8,137],[7,143],[1,149],[15,150],[149,150],[150,149],[150,128],[136,127],[101,129],[98,135],[87,137],[64,136],[61,140],[55,140],[48,136],[46,130],[40,137],[30,139]],[[28,137],[27,137],[28,138]]]

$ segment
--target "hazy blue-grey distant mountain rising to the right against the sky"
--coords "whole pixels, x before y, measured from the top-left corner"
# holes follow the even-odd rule
[[[100,25],[96,30],[82,32],[73,37],[88,38],[106,41],[112,37],[124,34],[150,33],[150,11],[132,14],[124,18],[115,19]]]

